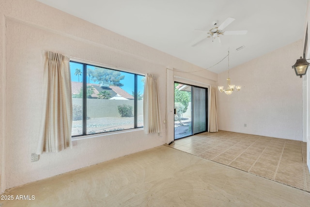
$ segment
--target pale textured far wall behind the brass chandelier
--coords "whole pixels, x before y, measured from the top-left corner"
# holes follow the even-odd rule
[[[302,79],[292,69],[302,51],[300,40],[232,68],[231,83],[242,89],[218,93],[219,129],[302,141]],[[218,85],[226,87],[227,77],[219,74]]]

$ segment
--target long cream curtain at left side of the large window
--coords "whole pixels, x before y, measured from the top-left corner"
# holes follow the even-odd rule
[[[72,97],[69,57],[44,52],[42,126],[37,154],[72,147]]]

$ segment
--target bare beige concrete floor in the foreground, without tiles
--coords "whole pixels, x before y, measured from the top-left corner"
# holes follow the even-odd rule
[[[34,199],[16,199],[20,195]],[[0,200],[1,207],[310,206],[307,191],[167,146],[16,187],[2,196],[14,199]]]

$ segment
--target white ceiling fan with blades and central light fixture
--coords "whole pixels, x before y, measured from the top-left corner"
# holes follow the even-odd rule
[[[232,17],[228,17],[221,25],[219,25],[217,27],[217,23],[218,21],[213,21],[212,25],[215,26],[213,28],[211,28],[208,32],[208,36],[204,37],[202,40],[196,42],[194,45],[192,45],[192,47],[195,47],[196,45],[198,45],[199,43],[201,43],[203,40],[205,40],[208,37],[212,37],[212,39],[214,40],[215,38],[218,39],[219,42],[221,42],[219,36],[220,35],[235,35],[235,34],[246,34],[248,31],[247,30],[240,30],[240,31],[224,31],[224,29],[230,25],[233,21],[235,20],[235,18]],[[204,31],[207,32],[206,30],[199,30],[199,31]],[[212,41],[213,41],[212,40]]]

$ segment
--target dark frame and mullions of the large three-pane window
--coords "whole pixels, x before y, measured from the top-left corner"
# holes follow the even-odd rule
[[[98,135],[108,135],[113,133],[124,133],[126,131],[132,131],[136,129],[143,129],[142,127],[138,127],[138,76],[145,77],[145,74],[133,72],[124,68],[115,67],[107,64],[98,64],[93,63],[90,61],[84,61],[76,58],[70,58],[70,63],[76,63],[76,64],[82,64],[83,65],[83,71],[82,71],[82,87],[83,87],[83,97],[82,97],[82,109],[83,109],[83,118],[82,118],[82,134],[79,135],[71,135],[72,139],[83,139],[84,137],[90,137],[90,136],[98,136]],[[94,66],[94,67],[101,67],[105,69],[110,69],[114,71],[119,72],[125,72],[134,75],[134,107],[133,107],[133,115],[134,115],[134,127],[133,128],[127,128],[127,129],[121,129],[121,130],[114,130],[114,131],[106,131],[106,132],[99,132],[99,133],[93,133],[93,134],[87,134],[87,65]],[[71,73],[71,68],[70,68]],[[72,79],[71,79],[72,81]],[[128,93],[128,92],[127,92]]]

